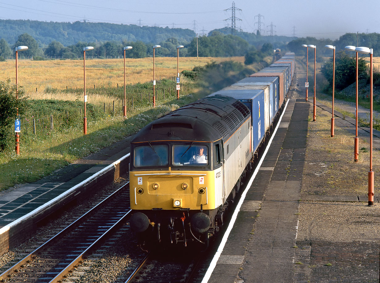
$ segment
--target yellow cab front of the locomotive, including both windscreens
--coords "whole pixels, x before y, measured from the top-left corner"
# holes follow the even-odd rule
[[[215,200],[214,192],[215,185],[222,185],[222,168],[213,170],[209,152],[209,145],[201,143],[136,146],[130,172],[131,209],[218,207],[222,200]]]

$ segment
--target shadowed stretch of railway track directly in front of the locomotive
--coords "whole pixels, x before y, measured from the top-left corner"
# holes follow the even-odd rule
[[[125,283],[189,283],[204,259],[202,252],[188,249],[152,251],[142,259],[139,266]]]

